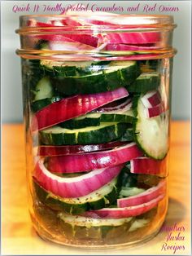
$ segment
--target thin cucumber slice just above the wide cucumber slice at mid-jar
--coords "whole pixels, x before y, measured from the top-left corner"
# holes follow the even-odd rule
[[[73,118],[72,120],[64,121],[59,126],[68,129],[79,129],[87,126],[99,126],[101,122],[124,122],[133,123],[133,111],[126,112],[106,112],[106,113],[89,113],[81,117]]]

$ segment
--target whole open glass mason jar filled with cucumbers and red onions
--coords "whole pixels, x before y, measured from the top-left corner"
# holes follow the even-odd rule
[[[155,236],[168,209],[168,15],[20,17],[29,209],[81,247]]]

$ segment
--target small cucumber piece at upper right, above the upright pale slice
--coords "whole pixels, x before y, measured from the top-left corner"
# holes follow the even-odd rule
[[[155,90],[160,84],[160,74],[157,72],[142,73],[135,82],[127,86],[129,92],[146,93],[149,90]]]

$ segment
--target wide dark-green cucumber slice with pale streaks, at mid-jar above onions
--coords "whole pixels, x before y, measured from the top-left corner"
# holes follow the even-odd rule
[[[127,126],[125,123],[117,122],[102,122],[99,126],[74,130],[53,126],[40,130],[39,135],[41,143],[47,145],[106,143],[124,135]]]

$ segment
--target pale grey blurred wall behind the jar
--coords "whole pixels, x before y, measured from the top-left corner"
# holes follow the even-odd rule
[[[20,72],[20,57],[15,55],[16,48],[20,48],[20,39],[15,34],[15,29],[19,27],[19,16],[34,14],[33,12],[20,12],[14,13],[12,8],[14,5],[22,6],[38,3],[40,6],[43,4],[55,6],[56,3],[63,5],[77,1],[2,1],[2,121],[13,122],[22,121],[22,90],[21,90],[21,72]],[[78,1],[87,3],[91,1]],[[164,11],[159,13],[155,11],[148,14],[163,14],[173,15],[177,29],[174,31],[173,46],[177,48],[177,55],[174,58],[173,65],[173,79],[172,79],[172,117],[174,119],[188,119],[190,118],[190,56],[191,56],[191,42],[190,42],[190,25],[191,25],[191,2],[190,1],[92,1],[97,3],[98,6],[112,6],[116,5],[136,6],[150,4],[153,6],[155,3],[164,5],[165,7],[178,7],[179,11],[168,12]],[[41,7],[42,9],[42,7]],[[127,12],[126,12],[127,13]],[[39,12],[38,14],[51,14],[51,12]],[[52,12],[52,14],[59,14]],[[127,13],[129,14],[129,13]],[[143,14],[142,11],[137,14]]]

